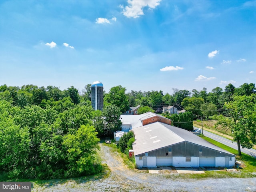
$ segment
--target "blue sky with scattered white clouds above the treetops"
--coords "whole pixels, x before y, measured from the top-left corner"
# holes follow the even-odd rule
[[[256,83],[256,0],[0,0],[0,85]]]

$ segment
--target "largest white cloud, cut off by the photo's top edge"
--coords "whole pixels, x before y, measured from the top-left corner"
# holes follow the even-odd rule
[[[143,8],[148,6],[150,9],[156,8],[161,0],[127,0],[128,6],[121,6],[123,8],[124,16],[130,18],[137,18],[144,15]]]

